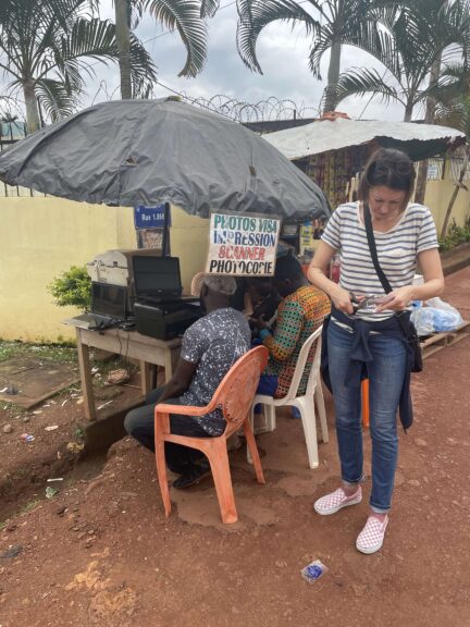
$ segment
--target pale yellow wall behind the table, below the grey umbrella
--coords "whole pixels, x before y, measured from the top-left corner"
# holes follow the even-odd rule
[[[57,307],[47,285],[71,266],[83,266],[114,248],[136,248],[133,209],[73,202],[60,198],[0,198],[0,337],[58,341],[73,339],[61,323],[77,314]],[[180,256],[187,292],[203,269],[208,221],[172,208],[172,255]]]

